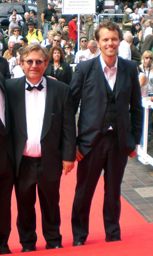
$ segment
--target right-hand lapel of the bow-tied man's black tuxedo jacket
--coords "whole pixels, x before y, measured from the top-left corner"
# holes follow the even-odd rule
[[[42,132],[41,132],[41,140],[44,138],[44,136],[47,134],[47,132],[50,129],[50,125],[52,122],[52,113],[53,113],[53,86],[47,77],[46,77],[46,81],[47,81],[46,102],[45,102],[45,112],[44,112]]]

